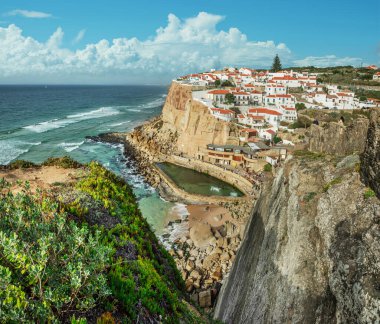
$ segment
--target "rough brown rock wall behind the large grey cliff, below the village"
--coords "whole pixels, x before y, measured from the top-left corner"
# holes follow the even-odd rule
[[[311,125],[306,132],[308,148],[312,152],[334,155],[360,154],[364,151],[368,124],[367,118],[358,118],[349,126],[335,122]]]

